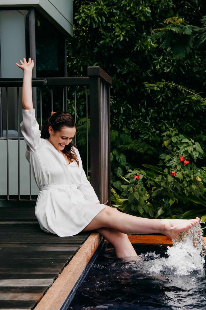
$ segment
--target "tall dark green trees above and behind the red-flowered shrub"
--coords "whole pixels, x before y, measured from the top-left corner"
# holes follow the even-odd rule
[[[88,66],[99,65],[112,76],[111,131],[118,132],[118,139],[112,140],[111,149],[124,153],[133,167],[135,162],[154,164],[160,155],[161,133],[180,123],[182,133],[195,138],[205,150],[205,106],[200,102],[200,96],[203,100],[205,96],[204,50],[192,48],[187,58],[180,59],[172,47],[161,47],[163,37],[155,38],[164,31],[151,33],[167,17],[166,27],[184,28],[185,36],[190,36],[186,34],[189,25],[203,33],[199,12],[206,15],[205,8],[203,1],[196,0],[188,5],[183,0],[74,2],[68,75],[85,76]],[[172,23],[172,16],[177,15],[181,17]],[[143,87],[145,82],[163,84],[154,90]],[[78,100],[79,109],[83,104]]]

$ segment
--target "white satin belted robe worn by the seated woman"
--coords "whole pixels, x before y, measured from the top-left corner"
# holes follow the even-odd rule
[[[76,161],[68,165],[64,156],[41,138],[34,109],[23,109],[20,128],[27,144],[25,155],[40,189],[35,206],[40,227],[59,237],[76,235],[105,208],[96,204],[99,199],[86,178],[79,151],[73,147],[79,167]]]

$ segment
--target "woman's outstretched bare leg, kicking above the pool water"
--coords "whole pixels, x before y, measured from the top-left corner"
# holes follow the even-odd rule
[[[173,239],[181,231],[199,223],[199,219],[145,219],[106,206],[82,230],[113,228],[125,234],[162,233]]]

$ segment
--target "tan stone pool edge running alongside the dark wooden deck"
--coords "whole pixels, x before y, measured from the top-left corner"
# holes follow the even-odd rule
[[[59,310],[68,307],[68,304],[73,298],[71,295],[75,294],[75,291],[90,269],[88,268],[90,260],[92,258],[95,259],[94,256],[97,256],[98,253],[96,252],[100,243],[103,246],[103,236],[98,232],[91,233],[68,265],[63,268],[57,279],[46,291],[46,294],[37,303],[37,306],[34,308],[35,310]],[[85,269],[87,269],[86,272]]]

